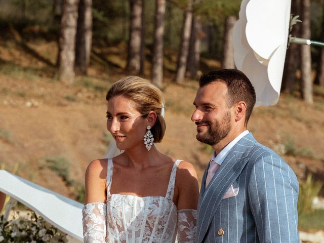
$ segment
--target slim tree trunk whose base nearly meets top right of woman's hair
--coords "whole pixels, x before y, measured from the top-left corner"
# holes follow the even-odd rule
[[[162,87],[163,80],[163,46],[164,26],[166,15],[166,0],[156,0],[154,50],[152,63],[152,83],[158,88]]]

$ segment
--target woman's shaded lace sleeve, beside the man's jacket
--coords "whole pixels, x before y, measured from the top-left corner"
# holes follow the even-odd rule
[[[178,211],[178,243],[194,243],[196,238],[197,210]]]

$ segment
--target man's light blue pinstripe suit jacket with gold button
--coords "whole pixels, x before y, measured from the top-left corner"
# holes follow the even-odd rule
[[[296,175],[251,133],[234,145],[205,189],[206,176],[207,170],[198,201],[197,243],[299,243]],[[238,195],[222,199],[231,185],[239,187]]]

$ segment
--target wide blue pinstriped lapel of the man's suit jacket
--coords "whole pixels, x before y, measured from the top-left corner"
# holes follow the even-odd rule
[[[203,241],[210,223],[228,188],[239,176],[249,161],[248,153],[254,144],[254,138],[248,134],[231,149],[210,184],[205,189],[207,170],[205,171],[198,202],[197,241]],[[249,149],[248,149],[248,148]]]

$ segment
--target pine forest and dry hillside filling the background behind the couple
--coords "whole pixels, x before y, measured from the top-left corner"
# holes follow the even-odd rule
[[[195,139],[192,101],[201,73],[235,67],[240,2],[0,0],[1,169],[82,202],[85,170],[112,139],[105,92],[140,75],[166,100],[157,147],[201,181],[212,149]],[[324,41],[323,1],[292,0],[291,12],[302,20],[292,36]],[[248,129],[297,174],[300,229],[324,229],[311,206],[324,196],[324,48],[290,45],[280,99],[256,107]]]

